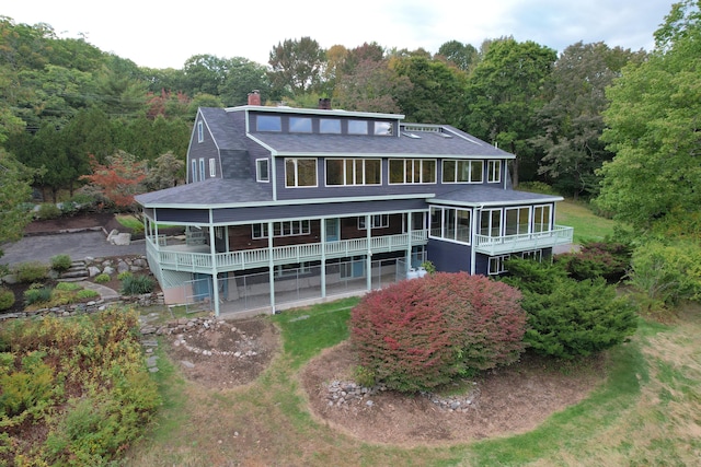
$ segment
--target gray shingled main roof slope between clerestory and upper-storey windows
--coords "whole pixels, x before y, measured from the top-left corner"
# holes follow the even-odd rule
[[[458,130],[455,130],[458,131]],[[508,152],[494,148],[484,141],[468,136],[469,140],[445,138],[438,132],[413,132],[420,138],[367,137],[354,135],[304,135],[255,132],[252,136],[272,148],[274,153],[334,155],[455,155],[473,157],[513,159]],[[467,135],[467,133],[464,133]]]

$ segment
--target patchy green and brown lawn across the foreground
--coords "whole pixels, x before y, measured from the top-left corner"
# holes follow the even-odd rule
[[[268,317],[280,329],[283,349],[243,387],[207,390],[185,382],[172,365],[161,366],[158,423],[125,465],[692,465],[701,456],[699,313],[674,325],[641,319],[637,334],[607,353],[606,383],[530,432],[401,447],[358,441],[307,408],[300,369],[347,338],[356,302]]]

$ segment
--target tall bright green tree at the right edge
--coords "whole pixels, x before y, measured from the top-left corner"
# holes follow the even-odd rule
[[[655,50],[628,65],[607,92],[602,139],[616,156],[601,168],[597,202],[637,227],[701,206],[700,7],[675,4]]]

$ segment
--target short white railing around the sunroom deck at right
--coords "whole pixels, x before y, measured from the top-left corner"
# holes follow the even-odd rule
[[[529,249],[550,248],[572,243],[574,229],[555,225],[547,232],[489,236],[475,235],[474,249],[484,255],[497,256]]]

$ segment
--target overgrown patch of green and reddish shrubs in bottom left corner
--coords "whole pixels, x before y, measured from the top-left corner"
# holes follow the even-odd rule
[[[117,464],[160,405],[138,323],[134,310],[110,308],[0,327],[13,349],[0,353],[1,465]],[[27,423],[44,436],[27,443]]]

